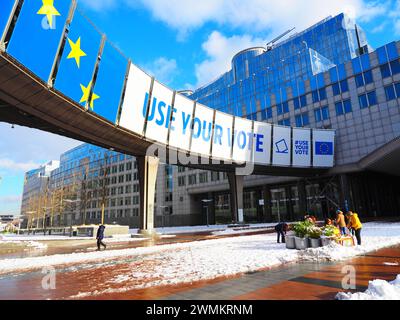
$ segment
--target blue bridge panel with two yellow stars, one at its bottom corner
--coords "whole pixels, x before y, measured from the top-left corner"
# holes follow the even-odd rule
[[[94,109],[101,96],[92,89],[102,35],[79,11],[71,22],[54,87],[82,106]],[[89,101],[90,99],[90,101]]]

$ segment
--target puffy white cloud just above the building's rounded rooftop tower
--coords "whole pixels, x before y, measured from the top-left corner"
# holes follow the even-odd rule
[[[206,60],[197,64],[196,87],[202,86],[217,76],[231,69],[232,57],[239,51],[265,45],[265,40],[249,35],[225,37],[218,31],[213,31],[202,48],[207,55]]]

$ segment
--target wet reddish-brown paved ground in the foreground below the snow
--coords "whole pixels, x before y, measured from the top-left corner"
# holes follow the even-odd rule
[[[0,277],[0,299],[68,299],[79,292],[104,290],[110,278],[132,270],[140,261],[114,261],[95,270],[57,270],[57,290],[43,290],[40,272]],[[133,264],[133,265],[132,265]],[[342,268],[356,270],[357,289],[364,291],[374,279],[393,280],[400,273],[400,246],[379,250],[341,263],[296,263],[283,267],[191,284],[102,293],[81,299],[133,300],[315,300],[334,299],[342,291]],[[151,262],[146,262],[151,268]],[[143,279],[145,281],[145,279]],[[351,290],[345,290],[351,291]]]

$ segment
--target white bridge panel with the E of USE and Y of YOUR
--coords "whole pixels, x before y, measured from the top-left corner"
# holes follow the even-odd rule
[[[193,100],[182,94],[176,94],[169,133],[170,146],[189,151],[193,108]]]

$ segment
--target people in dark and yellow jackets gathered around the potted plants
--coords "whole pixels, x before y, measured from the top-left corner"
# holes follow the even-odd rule
[[[304,217],[305,221],[310,221],[312,224],[317,223],[317,218],[312,215],[306,215]],[[346,215],[344,215],[343,211],[336,211],[335,219],[326,219],[325,225],[334,225],[337,229],[337,235],[352,235],[357,239],[357,244],[361,245],[361,230],[362,223],[357,213],[353,213],[352,211],[348,211]],[[282,243],[285,243],[286,232],[289,230],[289,225],[286,222],[280,222],[275,226],[275,231],[277,233],[277,242],[280,243],[282,239]]]

